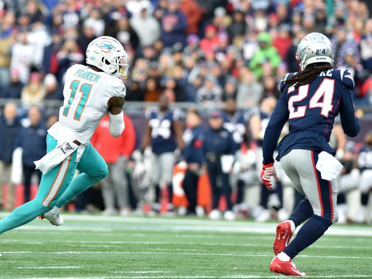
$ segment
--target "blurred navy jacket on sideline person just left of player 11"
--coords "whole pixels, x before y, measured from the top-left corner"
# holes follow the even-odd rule
[[[22,127],[15,142],[15,148],[22,147],[22,160],[25,166],[35,166],[33,161],[47,154],[47,126],[40,122],[35,127]]]

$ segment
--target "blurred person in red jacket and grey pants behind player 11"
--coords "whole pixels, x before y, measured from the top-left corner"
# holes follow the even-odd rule
[[[129,213],[129,190],[126,178],[126,163],[135,148],[136,134],[132,120],[124,115],[125,129],[120,137],[115,138],[109,131],[109,116],[103,116],[91,142],[107,163],[109,175],[102,181],[102,197],[105,205],[103,215],[117,214],[119,207],[120,215]]]

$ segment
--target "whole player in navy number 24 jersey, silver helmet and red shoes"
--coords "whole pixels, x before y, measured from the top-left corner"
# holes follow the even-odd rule
[[[344,133],[350,137],[359,133],[360,125],[353,106],[353,76],[347,70],[333,69],[330,40],[321,33],[306,35],[298,44],[296,59],[300,71],[286,74],[281,81],[282,95],[264,134],[261,178],[267,187],[272,185],[270,176],[279,180],[273,153],[280,132],[289,121],[289,134],[280,141],[276,160],[280,160],[294,187],[306,199],[276,228],[276,256],[270,271],[306,276],[296,269],[292,259],[338,219],[335,173],[339,173],[339,162],[330,155],[336,152],[328,145],[334,118],[340,113]],[[306,220],[289,243],[296,227]]]

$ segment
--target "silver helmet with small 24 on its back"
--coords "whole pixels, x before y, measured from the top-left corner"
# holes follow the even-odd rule
[[[296,53],[297,63],[303,71],[307,65],[318,62],[333,64],[333,47],[327,36],[309,33],[299,42]]]

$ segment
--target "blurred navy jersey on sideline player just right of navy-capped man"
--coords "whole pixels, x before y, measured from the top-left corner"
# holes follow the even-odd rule
[[[246,115],[242,111],[235,112],[234,116],[223,113],[224,128],[232,134],[234,140],[234,151],[240,150],[240,145],[244,141],[246,134]]]

